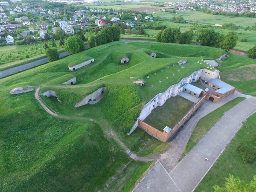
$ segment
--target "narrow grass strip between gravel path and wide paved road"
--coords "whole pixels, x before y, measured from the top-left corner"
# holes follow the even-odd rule
[[[225,111],[237,105],[244,99],[244,97],[238,97],[236,99],[233,99],[232,101],[228,102],[227,104],[221,106],[215,111],[212,111],[212,113],[209,113],[207,116],[204,116],[202,119],[200,119],[195,126],[195,129],[191,134],[183,153],[181,154],[180,160],[182,160],[186,156],[186,154],[188,154],[189,151],[191,151],[191,149],[194,148],[195,145],[205,136],[205,134],[210,131],[210,129],[216,124],[216,122],[221,119]],[[209,119],[211,120],[209,121]]]

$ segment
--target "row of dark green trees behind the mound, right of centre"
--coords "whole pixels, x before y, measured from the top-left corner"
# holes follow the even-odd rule
[[[200,29],[193,32],[192,29],[181,33],[180,28],[172,27],[160,31],[156,35],[156,42],[191,44],[193,38],[203,46],[217,47],[224,50],[233,49],[236,46],[238,35],[235,32],[228,32],[226,36],[215,32],[214,29]]]

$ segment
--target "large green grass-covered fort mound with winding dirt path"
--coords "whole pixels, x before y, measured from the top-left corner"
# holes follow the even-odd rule
[[[152,52],[157,58],[150,57]],[[152,138],[139,128],[127,135],[143,105],[193,71],[207,67],[195,62],[216,59],[224,53],[195,45],[113,42],[0,79],[0,98],[4,101],[0,102],[0,189],[102,191],[130,161],[126,149],[137,153]],[[130,59],[127,64],[120,63],[124,56]],[[68,70],[69,65],[80,64],[87,57],[93,57],[94,62]],[[177,64],[183,59],[188,60],[185,69]],[[226,73],[254,63],[253,59],[230,54],[220,70]],[[73,76],[76,84],[61,84]],[[145,80],[145,85],[134,83],[137,79]],[[35,91],[10,95],[13,88],[27,85],[39,88],[39,93],[55,91],[61,102],[39,95],[55,116],[35,99]],[[107,89],[98,103],[74,107],[100,87]],[[241,92],[247,92],[247,88],[241,87]],[[140,155],[157,154],[159,148],[164,152],[168,144],[153,139]],[[131,191],[153,163],[132,161],[107,190]]]

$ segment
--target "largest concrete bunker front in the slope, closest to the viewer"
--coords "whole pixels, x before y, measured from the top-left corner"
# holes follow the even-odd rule
[[[106,91],[106,87],[99,88],[98,90],[94,91],[93,93],[85,96],[81,101],[77,102],[75,105],[75,108],[83,106],[83,105],[87,105],[88,103],[93,105],[93,104],[99,102],[102,99],[105,91]]]

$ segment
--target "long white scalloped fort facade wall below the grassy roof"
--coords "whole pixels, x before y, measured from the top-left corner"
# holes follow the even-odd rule
[[[204,69],[200,69],[198,71],[193,72],[190,76],[183,78],[178,84],[174,84],[168,89],[166,89],[165,92],[159,93],[156,96],[154,96],[154,98],[151,99],[140,112],[137,121],[134,123],[134,126],[131,128],[131,131],[128,133],[128,135],[130,135],[137,128],[138,121],[143,121],[154,108],[156,108],[157,106],[162,106],[166,102],[166,100],[169,99],[171,96],[177,96],[183,90],[183,86],[185,84],[191,83],[192,81],[197,81],[200,78],[202,74],[201,72],[203,70]]]

